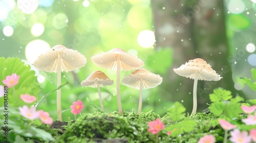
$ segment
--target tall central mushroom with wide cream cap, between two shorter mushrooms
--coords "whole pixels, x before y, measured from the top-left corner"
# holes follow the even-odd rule
[[[141,67],[144,62],[136,56],[130,55],[119,48],[94,55],[91,59],[100,67],[116,70],[117,106],[119,113],[123,113],[120,98],[120,70],[127,71]]]

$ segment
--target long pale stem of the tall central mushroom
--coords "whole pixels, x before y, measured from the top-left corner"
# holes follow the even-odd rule
[[[116,98],[117,98],[117,106],[120,114],[123,113],[121,98],[120,98],[120,61],[116,62]]]

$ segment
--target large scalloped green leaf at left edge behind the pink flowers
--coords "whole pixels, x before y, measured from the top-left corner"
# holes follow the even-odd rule
[[[6,76],[11,76],[12,74],[17,74],[20,76],[19,82],[14,86],[16,95],[13,92],[13,88],[8,88],[8,105],[19,106],[20,103],[24,103],[20,98],[20,94],[30,94],[38,98],[37,93],[40,91],[39,85],[35,77],[35,71],[30,70],[29,65],[24,65],[19,58],[5,59],[0,58],[0,85],[3,85],[2,81],[6,79]],[[29,104],[33,105],[35,102]],[[4,105],[4,98],[0,98],[0,107]]]

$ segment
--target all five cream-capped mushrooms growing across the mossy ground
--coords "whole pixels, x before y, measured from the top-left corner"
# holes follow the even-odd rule
[[[123,78],[122,84],[140,90],[138,114],[142,108],[142,90],[154,88],[162,83],[162,78],[150,71],[140,68],[144,62],[136,56],[130,55],[122,49],[112,49],[106,53],[101,53],[91,57],[91,60],[102,68],[116,70],[117,105],[119,113],[123,113],[120,97],[120,71],[135,69],[131,75]],[[61,72],[73,71],[87,63],[86,57],[78,51],[68,49],[63,45],[56,45],[45,54],[40,55],[33,65],[42,71],[57,73],[57,87],[61,83]],[[211,66],[203,59],[197,58],[189,60],[179,68],[174,69],[180,76],[194,79],[193,89],[193,111],[191,116],[197,111],[197,82],[198,80],[219,81],[222,77],[216,73]],[[98,89],[101,110],[104,111],[100,87],[113,85],[113,80],[109,79],[102,71],[94,71],[86,80],[81,82],[81,86],[90,86]],[[60,89],[57,90],[57,120],[61,118]]]

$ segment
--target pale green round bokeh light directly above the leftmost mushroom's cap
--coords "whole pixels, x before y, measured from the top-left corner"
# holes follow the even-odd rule
[[[67,26],[68,16],[64,13],[58,13],[54,16],[52,22],[56,29],[62,29]]]

